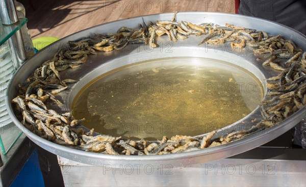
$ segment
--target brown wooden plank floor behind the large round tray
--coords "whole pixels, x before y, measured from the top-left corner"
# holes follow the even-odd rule
[[[123,18],[170,12],[208,11],[235,13],[235,0],[20,0],[32,39],[63,38],[101,23]]]

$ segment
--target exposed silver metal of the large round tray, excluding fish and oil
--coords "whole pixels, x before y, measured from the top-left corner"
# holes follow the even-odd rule
[[[35,68],[40,66],[44,61],[50,59],[58,50],[60,45],[65,44],[69,40],[74,41],[88,37],[94,33],[114,33],[123,25],[129,28],[137,28],[138,24],[142,23],[143,20],[146,23],[149,21],[154,22],[156,20],[170,20],[172,15],[172,13],[149,15],[101,24],[65,37],[39,51],[38,54],[33,56],[18,69],[10,81],[6,102],[9,114],[14,123],[25,133],[25,135],[27,135],[33,142],[42,148],[76,162],[99,166],[103,166],[104,164],[111,164],[114,167],[120,167],[120,165],[122,166],[124,164],[137,165],[139,167],[144,167],[147,164],[155,167],[158,167],[161,164],[163,164],[163,166],[171,164],[173,167],[182,167],[229,157],[258,147],[282,135],[282,133],[292,128],[295,124],[302,120],[303,117],[306,116],[306,110],[303,108],[278,125],[275,125],[264,131],[254,133],[253,135],[238,141],[217,147],[202,149],[199,151],[155,156],[107,155],[68,148],[40,138],[25,128],[16,118],[13,112],[13,105],[10,101],[17,95],[18,83],[24,82],[25,79],[33,73]],[[303,50],[306,50],[306,37],[304,35],[288,28],[287,26],[264,19],[235,14],[209,12],[182,12],[176,15],[176,19],[178,21],[185,20],[197,24],[203,22],[212,22],[224,25],[228,22],[250,29],[263,30],[270,35],[281,34],[286,39],[294,41]],[[127,46],[122,51],[99,52],[96,56],[92,55],[89,57],[87,63],[82,65],[80,68],[70,69],[65,71],[65,74],[62,74],[62,78],[69,77],[80,80],[79,83],[73,86],[71,89],[72,91],[61,94],[65,100],[65,107],[67,109],[71,107],[70,105],[74,96],[93,78],[112,69],[145,60],[170,57],[197,57],[216,59],[241,66],[252,72],[260,80],[264,80],[266,77],[274,76],[277,73],[270,68],[263,67],[261,63],[258,63],[256,61],[257,57],[253,56],[251,49],[245,48],[240,51],[228,51],[228,46],[197,46],[201,40],[202,37],[194,36],[189,37],[183,41],[172,43],[168,42],[167,37],[159,37],[158,43],[160,44],[160,47],[154,49],[144,45],[131,45]],[[265,81],[262,81],[262,83],[266,90]],[[226,133],[234,130],[249,129],[253,125],[250,120],[259,117],[259,110],[256,109],[244,119],[223,129],[220,129],[216,133],[215,137],[225,135]]]

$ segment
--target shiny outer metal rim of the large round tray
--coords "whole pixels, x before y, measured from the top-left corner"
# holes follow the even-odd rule
[[[246,18],[248,20],[256,20],[256,21],[261,21],[261,22],[265,22],[265,23],[269,23],[269,24],[276,24],[276,25],[280,25],[278,23],[272,22],[272,21],[267,21],[264,19],[260,19],[260,18],[254,18],[254,17],[250,17],[250,16],[241,16],[241,15],[234,15],[234,14],[227,14],[227,13],[215,13],[215,12],[182,12],[182,13],[178,13],[178,15],[189,15],[189,14],[198,14],[198,15],[219,15],[219,16],[230,16],[230,17],[237,17],[237,18]],[[60,42],[67,40],[68,38],[74,36],[74,35],[79,35],[82,33],[85,33],[87,31],[90,31],[94,28],[99,28],[101,26],[106,26],[108,24],[115,24],[115,23],[119,23],[122,21],[126,21],[126,20],[133,20],[133,19],[138,19],[138,18],[150,18],[150,17],[154,17],[154,16],[163,16],[163,17],[171,17],[173,14],[172,13],[165,13],[165,14],[154,14],[154,15],[147,15],[147,16],[138,16],[138,17],[134,17],[134,18],[126,18],[126,19],[121,19],[118,21],[112,21],[112,22],[108,22],[108,23],[104,23],[104,24],[100,24],[100,25],[96,25],[93,26],[91,28],[85,29],[83,31],[74,33],[72,35],[69,35],[67,37],[64,37],[63,39],[55,42],[53,44],[53,46],[60,44]],[[301,33],[288,28],[285,25],[281,25],[283,27],[285,27],[288,30],[290,30],[291,32],[294,32],[296,35],[299,35],[300,37],[302,37],[304,39],[304,41],[306,41],[306,37],[304,35],[302,35]],[[303,42],[303,41],[302,41]],[[303,46],[301,46],[303,47]],[[304,48],[303,48],[304,49]],[[41,51],[38,52],[38,54],[36,54],[34,57],[32,57],[31,59],[29,59],[27,62],[31,62],[34,61],[35,58],[39,55],[43,55],[43,52],[45,52],[47,49],[43,49]],[[305,49],[304,49],[305,50]],[[33,63],[32,63],[33,64]],[[33,132],[29,131],[27,128],[25,128],[15,117],[15,115],[12,112],[12,105],[10,102],[10,88],[12,87],[13,81],[16,79],[16,77],[18,76],[18,74],[20,72],[22,72],[22,70],[24,69],[25,66],[28,66],[28,63],[24,63],[13,75],[13,78],[10,80],[9,82],[9,86],[8,86],[8,90],[7,90],[7,96],[6,96],[6,105],[8,106],[9,110],[9,115],[12,118],[13,122],[18,126],[18,128],[20,128],[32,141],[34,141],[35,143],[37,143],[38,145],[40,145],[41,147],[43,147],[44,149],[56,153],[60,156],[69,158],[69,159],[73,159],[74,161],[77,162],[84,162],[87,164],[93,164],[93,165],[101,165],[104,164],[108,161],[114,161],[114,162],[123,162],[123,163],[130,163],[130,162],[141,162],[141,161],[145,161],[145,162],[152,162],[152,164],[156,164],[158,165],[160,162],[165,162],[165,161],[171,161],[171,164],[173,164],[174,166],[186,166],[188,164],[195,164],[195,163],[199,163],[199,162],[208,162],[208,161],[212,161],[214,159],[219,159],[219,158],[223,158],[224,154],[221,154],[224,151],[227,151],[227,154],[225,157],[228,156],[232,156],[244,151],[247,151],[249,149],[252,149],[254,147],[260,146],[264,143],[266,143],[266,139],[265,140],[261,140],[263,138],[263,136],[258,136],[259,133],[263,133],[263,132],[257,132],[253,135],[250,135],[249,137],[246,137],[242,140],[239,141],[235,141],[235,142],[231,142],[225,145],[220,145],[217,147],[212,147],[212,148],[207,148],[207,149],[203,149],[203,150],[198,150],[198,151],[192,151],[192,152],[186,152],[186,153],[177,153],[177,154],[169,154],[169,155],[147,155],[147,156],[125,156],[125,155],[106,155],[106,154],[100,154],[100,153],[94,153],[94,152],[85,152],[82,150],[77,150],[77,149],[72,149],[72,148],[68,148],[65,146],[61,146],[61,145],[57,145],[53,142],[49,142],[47,140],[44,140],[42,138],[40,138],[39,136],[35,135]],[[281,135],[281,133],[286,132],[287,130],[289,130],[293,125],[294,122],[299,122],[301,119],[297,119],[294,117],[297,116],[306,116],[306,109],[303,108],[301,110],[299,110],[298,112],[296,112],[295,114],[293,114],[290,118],[282,121],[280,124],[275,125],[273,127],[273,132],[272,135],[269,137],[270,140],[276,138],[277,136]],[[276,133],[278,132],[278,133]],[[267,136],[267,135],[265,135]],[[246,142],[253,142],[253,147],[248,147],[248,148],[241,148],[243,147],[243,145]],[[236,150],[234,150],[233,148],[236,148]],[[220,154],[219,154],[220,153]],[[71,155],[70,155],[71,154]],[[219,155],[218,155],[219,154]],[[72,156],[74,155],[74,156]],[[205,155],[211,155],[209,157],[203,157]],[[191,158],[195,158],[197,157],[198,159],[194,159],[193,161],[191,161]],[[202,159],[200,159],[200,157]],[[178,163],[176,160],[182,160],[182,161],[186,161],[186,159],[188,159],[190,162],[188,163]]]

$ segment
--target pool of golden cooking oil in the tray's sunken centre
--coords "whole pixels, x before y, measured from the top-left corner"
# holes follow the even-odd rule
[[[72,111],[96,132],[156,140],[222,128],[248,115],[262,98],[258,78],[238,66],[167,58],[97,77],[75,97]]]

